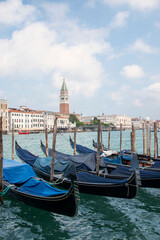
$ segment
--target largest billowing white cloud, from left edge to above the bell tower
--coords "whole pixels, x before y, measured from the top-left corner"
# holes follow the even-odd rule
[[[108,45],[96,39],[74,45],[59,40],[58,33],[43,23],[30,24],[14,32],[10,40],[0,40],[0,74],[46,78],[59,72],[68,77],[73,94],[92,96],[103,74],[95,54],[103,53]]]

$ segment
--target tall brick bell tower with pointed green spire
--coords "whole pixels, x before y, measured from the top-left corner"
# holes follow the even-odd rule
[[[69,114],[69,95],[64,78],[60,91],[60,114]]]

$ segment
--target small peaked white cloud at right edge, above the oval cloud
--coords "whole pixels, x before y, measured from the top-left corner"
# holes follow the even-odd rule
[[[130,49],[138,51],[138,52],[150,53],[150,54],[159,52],[159,49],[147,45],[146,43],[143,42],[142,39],[138,39],[133,44],[133,46],[130,46]]]

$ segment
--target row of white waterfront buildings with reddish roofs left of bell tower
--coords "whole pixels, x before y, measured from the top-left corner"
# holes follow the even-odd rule
[[[69,116],[60,115],[59,113],[50,111],[36,111],[26,106],[20,106],[19,109],[9,108],[9,131],[12,131],[12,123],[14,130],[29,130],[30,132],[41,132],[47,127],[48,131],[54,128],[54,120],[57,117],[57,128],[67,129],[74,128],[75,123],[69,122]]]

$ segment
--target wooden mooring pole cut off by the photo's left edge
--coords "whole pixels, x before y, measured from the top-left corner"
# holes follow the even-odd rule
[[[2,127],[2,117],[0,117],[0,192],[3,192],[3,127]],[[0,202],[3,203],[3,197],[0,197]]]

